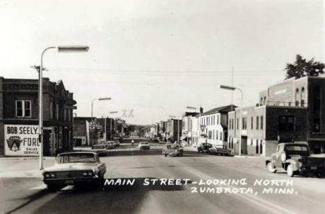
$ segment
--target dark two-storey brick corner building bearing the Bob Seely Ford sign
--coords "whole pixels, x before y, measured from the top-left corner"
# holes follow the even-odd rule
[[[76,101],[61,80],[43,78],[44,155],[72,149]],[[38,80],[0,77],[0,155],[38,156]]]

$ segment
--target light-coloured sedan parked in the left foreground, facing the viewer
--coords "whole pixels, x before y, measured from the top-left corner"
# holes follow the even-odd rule
[[[51,191],[60,190],[68,185],[92,184],[98,187],[103,183],[106,172],[95,152],[66,152],[56,157],[54,166],[42,172],[43,182]]]

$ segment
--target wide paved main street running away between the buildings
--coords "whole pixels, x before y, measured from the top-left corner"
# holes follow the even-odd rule
[[[15,201],[25,198],[27,203],[12,213],[325,213],[324,178],[288,178],[285,173],[270,174],[263,167],[264,158],[261,157],[211,156],[189,150],[185,150],[183,157],[164,157],[161,154],[163,148],[162,144],[151,143],[151,150],[138,150],[136,146],[132,148],[126,143],[110,150],[107,157],[101,157],[107,166],[108,181],[135,179],[133,186],[119,186],[117,183],[106,185],[103,190],[76,190],[68,186],[57,193],[49,193],[36,176],[25,177],[26,185],[24,181],[19,181],[22,178],[3,178],[5,211],[8,213],[15,208]],[[37,169],[37,159],[26,161],[30,169]],[[50,166],[53,161],[53,158],[47,159],[45,166]],[[30,162],[34,164],[30,166]],[[10,170],[11,166],[6,163],[8,160],[1,159],[1,171],[6,168],[6,173],[19,172],[18,166],[22,164],[16,161]],[[167,186],[158,181],[159,184],[144,185],[148,184],[147,179],[164,178],[185,180],[181,181],[183,185]],[[215,182],[221,179],[242,179],[244,183],[208,185],[209,179],[215,179]],[[280,181],[289,183],[288,186],[253,186],[256,179],[276,179],[278,185]],[[200,185],[200,181],[206,185]],[[245,190],[244,193],[213,193],[212,189],[218,187]],[[33,193],[33,197],[28,197],[24,188],[39,190]],[[198,193],[192,193],[194,188]],[[249,188],[252,188],[253,193],[248,193]],[[287,188],[294,191],[288,194],[263,194],[263,188],[272,188],[274,191],[276,188]],[[201,190],[203,193],[200,193]],[[6,193],[11,193],[10,198],[6,197]],[[25,195],[19,195],[23,193]],[[10,209],[6,208],[8,205]]]

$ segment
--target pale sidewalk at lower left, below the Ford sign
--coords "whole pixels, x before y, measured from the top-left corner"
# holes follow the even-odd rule
[[[45,157],[44,168],[54,161],[55,157]],[[15,211],[48,193],[38,168],[38,157],[0,158],[0,213]]]

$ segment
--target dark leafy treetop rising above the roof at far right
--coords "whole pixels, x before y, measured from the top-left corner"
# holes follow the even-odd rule
[[[285,79],[302,78],[304,76],[318,76],[324,73],[324,63],[315,62],[314,58],[307,61],[301,55],[296,55],[296,61],[293,64],[287,63],[285,66]]]

